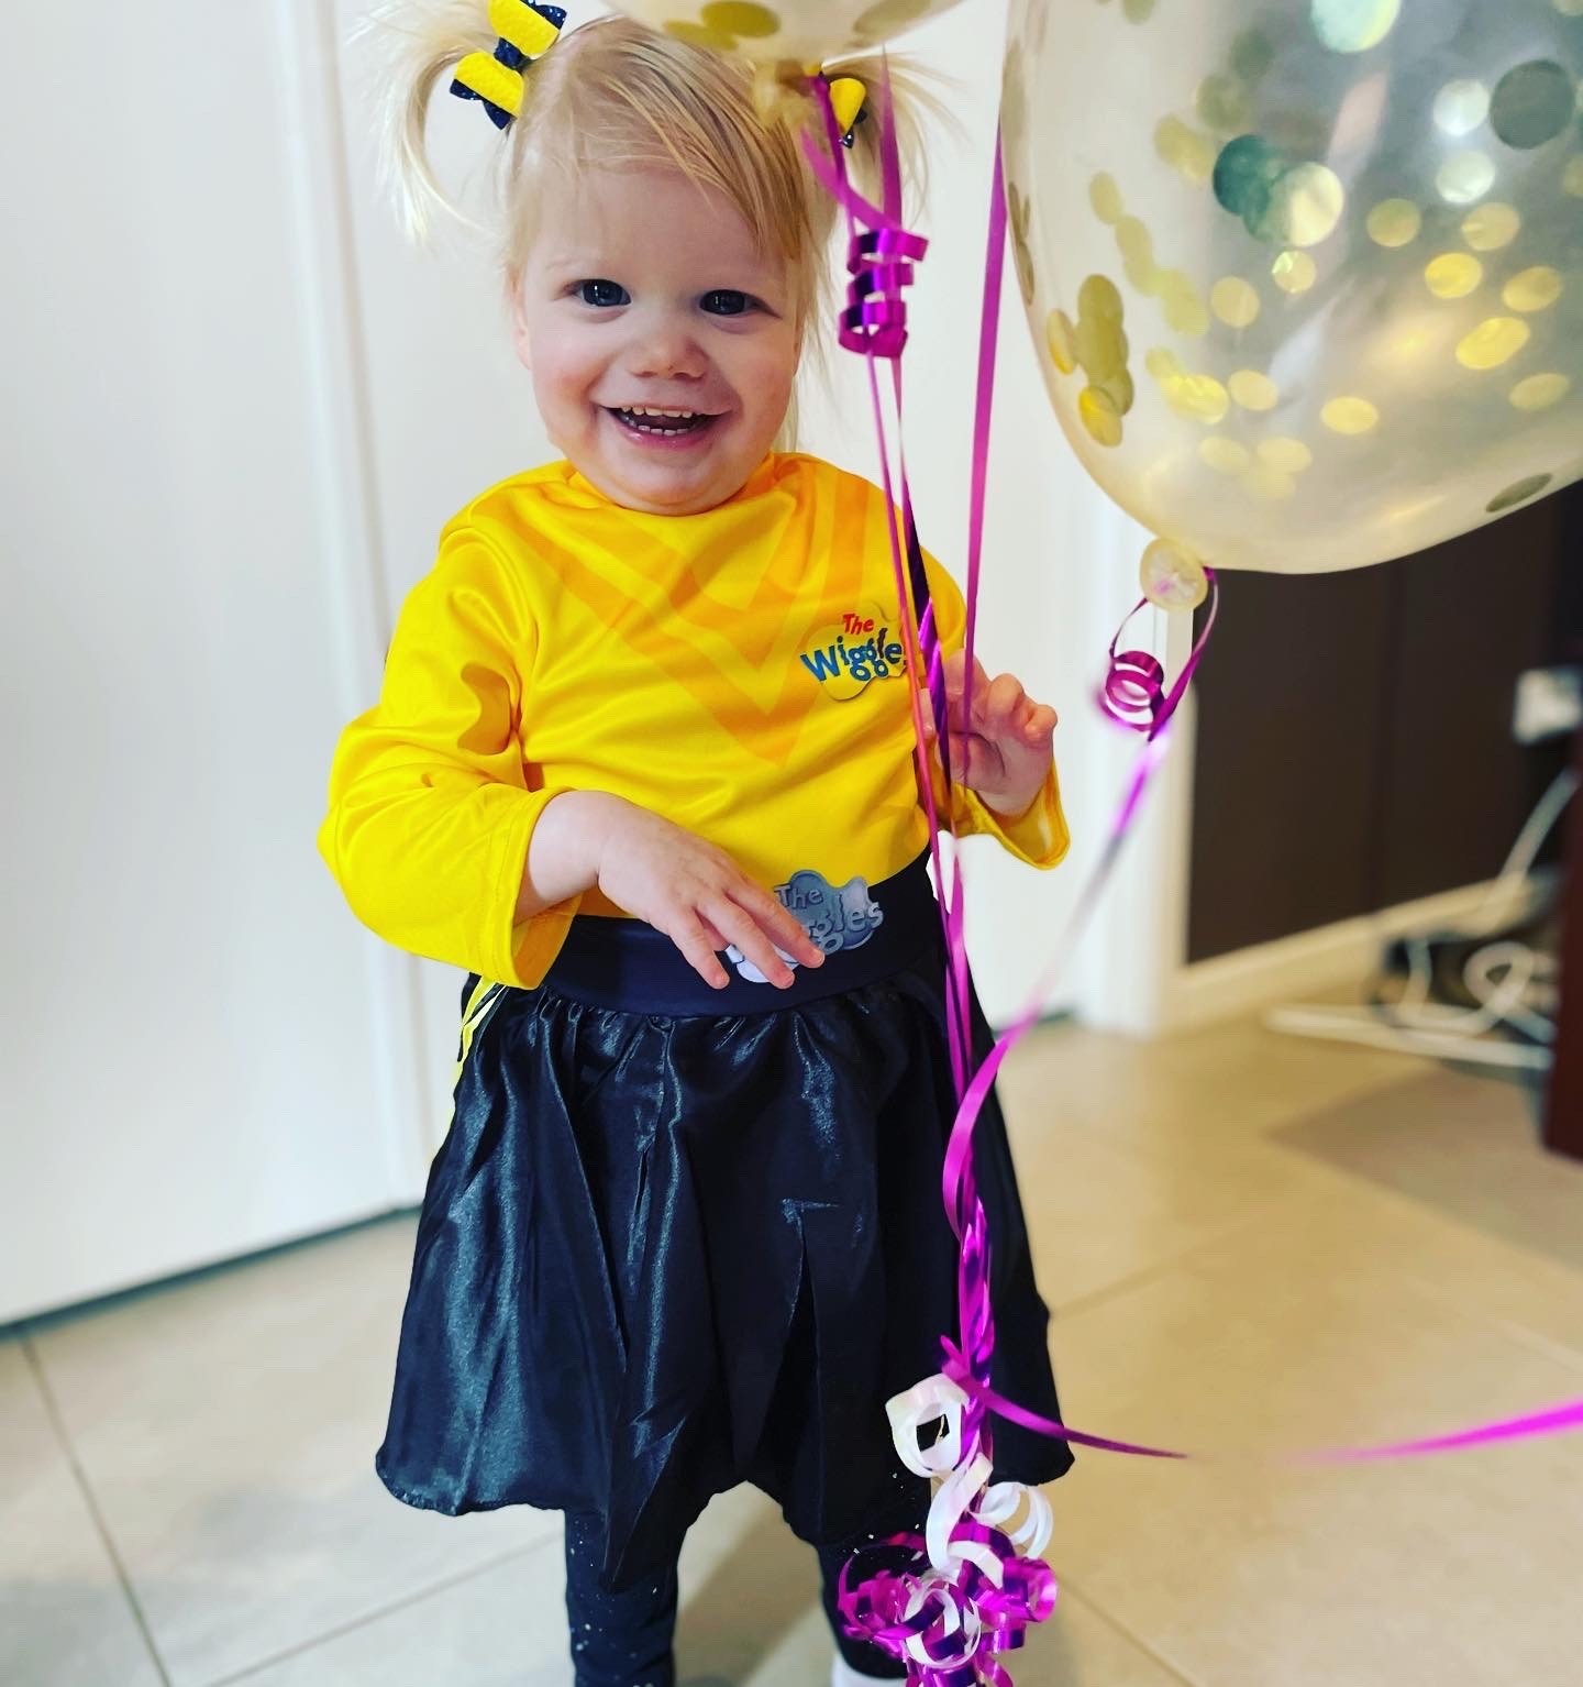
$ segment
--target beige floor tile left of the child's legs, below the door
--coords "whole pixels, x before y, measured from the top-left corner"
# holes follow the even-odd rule
[[[373,1473],[411,1223],[369,1226],[37,1334],[67,1434],[174,1687],[201,1687],[462,1571],[555,1518],[462,1520]]]

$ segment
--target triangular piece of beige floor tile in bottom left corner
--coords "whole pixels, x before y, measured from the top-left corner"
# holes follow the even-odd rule
[[[0,1682],[157,1687],[158,1672],[20,1341],[0,1341]]]

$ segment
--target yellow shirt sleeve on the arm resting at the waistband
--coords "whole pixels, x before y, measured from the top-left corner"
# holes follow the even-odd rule
[[[406,599],[378,707],[341,736],[319,852],[352,913],[398,948],[539,984],[580,897],[514,923],[533,790],[521,722],[536,629],[497,552],[450,528]]]

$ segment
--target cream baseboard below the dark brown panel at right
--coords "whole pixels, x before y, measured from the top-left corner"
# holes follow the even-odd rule
[[[1274,943],[1217,955],[1183,967],[1165,992],[1162,1031],[1190,1031],[1219,1019],[1237,1019],[1276,1002],[1300,1002],[1315,990],[1362,985],[1379,967],[1381,950],[1413,931],[1458,930],[1484,911],[1499,881],[1468,884],[1416,903],[1386,908],[1359,919],[1342,919],[1317,931],[1298,931]],[[1527,904],[1554,882],[1551,869],[1527,879]],[[1512,896],[1507,918],[1522,913]]]

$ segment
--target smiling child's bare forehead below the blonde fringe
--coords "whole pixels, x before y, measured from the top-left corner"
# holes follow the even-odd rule
[[[582,267],[595,256],[651,273],[750,272],[781,278],[787,263],[759,250],[742,213],[679,170],[545,172],[534,261]]]

